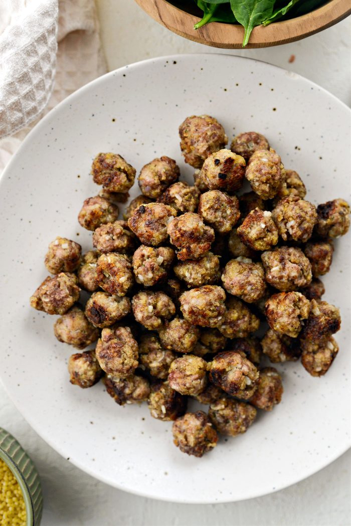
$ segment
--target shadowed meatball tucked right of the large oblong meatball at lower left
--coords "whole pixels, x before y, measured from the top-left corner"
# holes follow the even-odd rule
[[[141,368],[147,369],[152,376],[165,380],[171,363],[177,358],[173,351],[164,349],[156,334],[147,332],[139,343]]]

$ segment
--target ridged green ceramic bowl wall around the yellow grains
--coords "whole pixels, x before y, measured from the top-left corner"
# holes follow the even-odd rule
[[[21,487],[26,505],[26,526],[39,526],[43,512],[43,495],[38,472],[21,444],[2,428],[0,459],[11,469]]]

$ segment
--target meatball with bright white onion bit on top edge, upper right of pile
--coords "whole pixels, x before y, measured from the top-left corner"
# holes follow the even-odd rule
[[[239,238],[253,250],[269,250],[278,242],[278,229],[272,212],[255,208],[237,229]]]

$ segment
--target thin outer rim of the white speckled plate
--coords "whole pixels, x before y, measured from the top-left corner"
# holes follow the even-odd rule
[[[105,82],[105,80],[108,77],[114,77],[116,75],[116,73],[123,72],[124,70],[126,70],[126,69],[128,69],[130,67],[134,67],[134,66],[136,66],[136,67],[144,67],[144,65],[148,64],[148,63],[163,62],[163,61],[166,61],[166,60],[176,60],[176,59],[178,59],[178,60],[180,60],[180,59],[182,59],[182,60],[184,60],[184,59],[186,59],[186,60],[193,60],[196,57],[209,57],[209,56],[210,57],[218,57],[219,56],[221,58],[222,57],[228,57],[228,58],[225,58],[226,60],[227,59],[229,60],[229,59],[232,59],[233,57],[235,57],[235,59],[240,59],[240,60],[243,60],[244,62],[252,62],[252,63],[258,62],[258,63],[262,63],[265,66],[268,66],[268,68],[276,69],[280,73],[284,73],[286,76],[288,76],[288,77],[290,77],[292,79],[302,80],[303,82],[307,83],[309,86],[312,85],[314,87],[317,87],[320,91],[324,92],[327,96],[332,97],[334,102],[336,102],[337,104],[342,105],[344,110],[347,110],[347,112],[351,115],[351,108],[349,108],[342,100],[338,99],[335,95],[330,93],[324,87],[319,86],[318,84],[314,83],[312,80],[309,80],[308,78],[306,78],[306,77],[304,77],[302,75],[299,75],[298,73],[291,72],[291,71],[289,71],[289,70],[287,70],[285,68],[282,68],[280,66],[276,66],[274,64],[270,64],[268,62],[265,62],[264,60],[257,60],[255,58],[249,58],[249,57],[244,57],[244,56],[237,56],[235,54],[229,54],[229,53],[208,53],[208,52],[207,53],[185,53],[185,54],[179,53],[179,54],[173,54],[173,55],[164,55],[164,56],[148,58],[148,59],[145,59],[145,60],[139,60],[137,62],[134,62],[134,63],[131,63],[131,64],[127,64],[125,66],[122,66],[122,67],[119,67],[117,69],[114,69],[111,72],[108,72],[108,73],[106,73],[104,75],[101,75],[101,76],[97,77],[96,79],[91,80],[91,82],[85,84],[81,88],[78,88],[71,95],[69,95],[68,97],[63,99],[61,102],[59,102],[42,119],[40,119],[39,122],[36,123],[36,125],[31,129],[31,131],[29,131],[29,133],[27,134],[27,136],[25,137],[25,139],[22,141],[21,145],[19,146],[18,150],[15,152],[15,154],[12,156],[11,160],[7,163],[5,169],[3,170],[3,173],[0,176],[0,196],[1,196],[2,185],[4,184],[4,180],[5,180],[6,176],[7,176],[7,172],[11,171],[12,164],[16,161],[16,157],[21,155],[22,148],[24,148],[26,146],[27,142],[29,142],[32,139],[32,136],[34,136],[37,133],[40,133],[41,128],[45,127],[46,121],[49,118],[52,118],[53,115],[55,114],[55,112],[59,111],[62,106],[69,105],[73,100],[75,100],[76,97],[81,96],[82,93],[84,93],[85,91],[88,91],[89,89],[91,89],[91,87],[93,85],[97,85],[97,84],[99,84],[101,82]],[[5,383],[5,380],[3,378],[3,373],[2,373],[1,370],[0,370],[0,382],[2,383],[6,393],[8,395],[8,397],[14,403],[16,409],[19,411],[19,413],[21,413],[22,417],[28,422],[28,424],[38,434],[38,436],[42,440],[44,440],[48,444],[48,446],[51,447],[54,451],[56,451],[60,456],[62,456],[64,459],[67,459],[66,452],[64,452],[64,450],[59,445],[57,445],[57,444],[53,445],[52,439],[49,438],[49,437],[46,437],[45,430],[42,431],[42,430],[37,429],[36,425],[32,423],[31,416],[28,416],[28,414],[24,414],[23,413],[19,402],[17,403],[17,401],[15,399],[15,395],[12,395],[12,393],[9,391],[9,388],[7,387],[7,384]],[[117,488],[118,490],[126,491],[126,492],[132,493],[134,495],[138,495],[139,497],[144,497],[144,498],[149,498],[149,499],[159,500],[159,501],[164,501],[164,502],[174,502],[174,503],[179,503],[179,504],[220,504],[220,503],[229,503],[229,502],[240,502],[240,501],[246,501],[246,500],[250,500],[250,499],[254,499],[254,498],[258,498],[258,497],[264,497],[265,495],[269,495],[271,493],[276,493],[277,491],[286,489],[286,488],[288,488],[288,487],[290,487],[290,486],[292,486],[294,484],[297,484],[298,482],[301,482],[301,481],[313,476],[318,471],[321,471],[322,469],[326,468],[327,466],[329,466],[329,464],[331,464],[336,459],[338,459],[340,456],[342,456],[350,448],[351,448],[351,439],[350,440],[344,440],[343,443],[340,445],[340,447],[337,449],[337,451],[334,452],[333,455],[328,457],[327,462],[324,462],[324,461],[323,462],[319,462],[317,467],[312,469],[312,470],[310,470],[310,471],[308,471],[307,474],[305,474],[303,478],[300,478],[299,476],[296,476],[296,477],[293,478],[293,480],[289,480],[287,483],[279,485],[278,488],[270,489],[269,491],[263,491],[263,492],[262,491],[253,492],[252,494],[250,494],[245,499],[242,499],[240,497],[239,498],[235,498],[235,496],[233,496],[233,497],[220,497],[219,496],[216,500],[206,500],[206,501],[199,500],[199,499],[194,499],[194,498],[190,498],[190,499],[179,498],[179,499],[177,499],[176,496],[172,497],[172,499],[163,497],[162,495],[155,496],[155,495],[153,495],[151,493],[148,493],[147,491],[136,490],[134,488],[129,487],[128,485],[122,486],[121,484],[118,484],[118,483],[116,483],[114,481],[111,481],[108,478],[104,477],[103,474],[100,474],[100,473],[97,474],[97,473],[93,472],[93,470],[91,470],[88,466],[84,466],[81,462],[73,460],[72,457],[70,457],[69,462],[74,464],[74,466],[76,466],[78,469],[81,469],[82,471],[84,471],[89,476],[93,477],[94,479],[97,479],[97,480],[99,480],[101,482],[104,482],[105,484],[107,484],[109,486],[112,486],[114,488]]]

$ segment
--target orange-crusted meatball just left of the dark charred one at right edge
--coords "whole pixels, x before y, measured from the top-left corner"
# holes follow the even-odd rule
[[[280,292],[266,301],[269,327],[296,338],[309,315],[310,302],[300,292]]]

